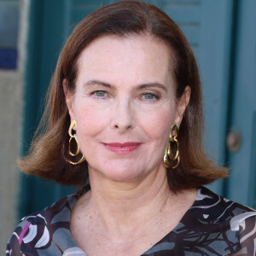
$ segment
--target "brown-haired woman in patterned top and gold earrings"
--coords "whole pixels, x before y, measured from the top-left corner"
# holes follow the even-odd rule
[[[23,218],[7,255],[255,255],[256,212],[201,187],[226,170],[202,151],[195,57],[160,9],[125,1],[82,20],[45,120],[21,170],[82,189]]]

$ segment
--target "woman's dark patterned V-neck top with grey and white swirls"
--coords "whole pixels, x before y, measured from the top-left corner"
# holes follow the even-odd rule
[[[86,256],[69,226],[73,205],[89,189],[22,218],[9,239],[6,255]],[[255,256],[256,211],[201,187],[176,228],[143,255]]]

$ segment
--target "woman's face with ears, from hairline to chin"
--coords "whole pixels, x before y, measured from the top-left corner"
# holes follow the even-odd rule
[[[171,49],[150,36],[105,36],[83,50],[78,67],[66,98],[89,172],[129,182],[164,170],[171,126],[189,101],[188,90],[175,97]]]

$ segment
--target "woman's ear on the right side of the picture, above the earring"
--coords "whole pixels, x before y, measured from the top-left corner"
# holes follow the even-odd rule
[[[191,88],[189,85],[187,85],[183,91],[183,95],[178,99],[177,102],[177,113],[174,119],[174,123],[177,125],[177,127],[179,127],[183,120],[183,114],[185,113],[185,110],[189,104],[190,94]]]

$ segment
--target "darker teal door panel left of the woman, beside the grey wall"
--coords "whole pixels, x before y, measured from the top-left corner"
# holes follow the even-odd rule
[[[31,1],[30,26],[24,82],[20,154],[26,155],[44,109],[44,96],[54,72],[57,56],[66,38],[65,1]],[[50,143],[50,142],[49,142]],[[19,213],[21,218],[36,212],[74,191],[53,182],[20,174]]]

